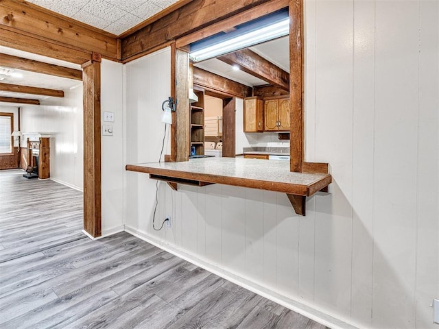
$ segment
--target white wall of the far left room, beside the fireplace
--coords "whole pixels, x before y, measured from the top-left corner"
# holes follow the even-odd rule
[[[83,188],[82,84],[40,106],[21,107],[21,132],[50,132],[50,177]],[[22,145],[26,147],[25,144]]]

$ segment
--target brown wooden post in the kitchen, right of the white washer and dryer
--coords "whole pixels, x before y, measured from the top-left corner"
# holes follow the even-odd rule
[[[235,98],[222,100],[222,156],[235,158]]]

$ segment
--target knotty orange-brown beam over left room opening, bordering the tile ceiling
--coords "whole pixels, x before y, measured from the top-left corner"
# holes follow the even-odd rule
[[[70,49],[95,51],[110,59],[118,58],[119,45],[116,36],[33,3],[1,0],[0,17],[0,25],[9,27],[12,32]],[[50,50],[46,49],[45,55],[53,57]]]

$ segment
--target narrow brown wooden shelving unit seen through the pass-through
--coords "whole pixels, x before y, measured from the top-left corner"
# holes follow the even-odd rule
[[[191,124],[191,148],[195,147],[195,155],[204,156],[204,90],[193,90],[198,96],[196,103],[191,103],[189,115]]]

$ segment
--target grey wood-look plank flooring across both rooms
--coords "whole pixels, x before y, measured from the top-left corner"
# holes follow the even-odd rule
[[[0,171],[0,328],[324,329],[121,232],[81,233],[82,193]]]

